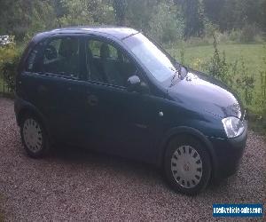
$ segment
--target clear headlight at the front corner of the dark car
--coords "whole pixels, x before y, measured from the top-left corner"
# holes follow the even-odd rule
[[[244,124],[237,117],[227,117],[224,118],[222,122],[228,138],[238,137],[245,130]]]

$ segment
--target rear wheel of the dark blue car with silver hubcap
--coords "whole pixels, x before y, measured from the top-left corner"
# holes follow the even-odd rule
[[[27,155],[33,158],[40,158],[49,151],[49,141],[43,124],[35,115],[25,115],[20,126],[22,144]]]

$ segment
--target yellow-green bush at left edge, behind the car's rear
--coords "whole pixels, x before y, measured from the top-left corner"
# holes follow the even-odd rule
[[[0,75],[9,91],[15,90],[15,76],[20,62],[20,52],[15,44],[0,48]]]

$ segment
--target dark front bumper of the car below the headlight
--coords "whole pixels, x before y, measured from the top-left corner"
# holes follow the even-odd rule
[[[247,122],[245,131],[233,139],[208,138],[214,150],[214,177],[227,178],[234,174],[239,168],[239,162],[244,153],[247,139]]]

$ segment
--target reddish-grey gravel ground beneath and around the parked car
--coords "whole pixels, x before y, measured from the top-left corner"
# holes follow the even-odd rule
[[[239,172],[187,197],[171,191],[158,170],[143,163],[73,148],[43,160],[28,158],[13,102],[0,98],[0,214],[7,221],[208,221],[214,219],[213,203],[265,208],[265,151],[265,140],[250,131]]]

